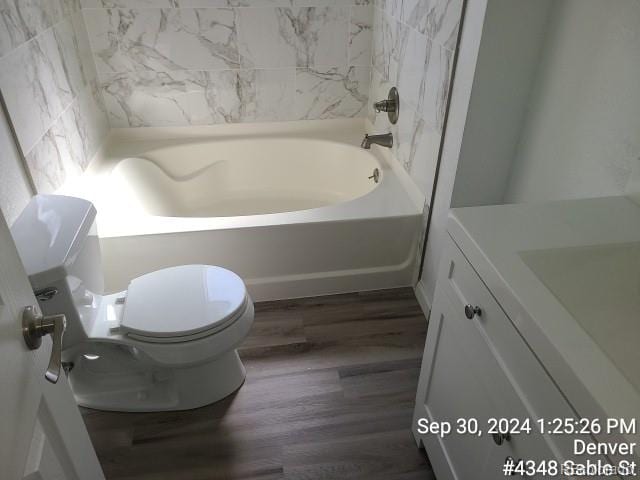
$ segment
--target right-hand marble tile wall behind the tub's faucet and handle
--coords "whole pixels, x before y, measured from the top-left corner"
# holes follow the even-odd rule
[[[423,235],[434,188],[440,140],[463,0],[374,0],[371,98],[377,133],[394,135],[395,158],[425,195]],[[400,93],[400,119],[391,125],[371,105]],[[419,239],[422,255],[424,238]],[[418,262],[419,264],[419,262]],[[416,272],[417,273],[417,272]]]

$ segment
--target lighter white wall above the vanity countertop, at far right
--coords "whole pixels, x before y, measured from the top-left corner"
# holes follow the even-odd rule
[[[620,195],[640,164],[640,2],[555,0],[506,202]]]

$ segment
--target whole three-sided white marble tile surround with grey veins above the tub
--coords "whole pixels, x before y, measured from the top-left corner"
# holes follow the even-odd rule
[[[148,126],[368,113],[428,196],[461,1],[0,0],[0,88],[39,191],[84,168],[106,114]],[[404,115],[391,127],[367,105],[394,84]]]

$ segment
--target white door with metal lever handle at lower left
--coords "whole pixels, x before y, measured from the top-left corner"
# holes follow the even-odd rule
[[[65,374],[45,380],[50,336],[37,350],[23,339],[24,308],[36,303],[0,213],[0,478],[104,479]]]

